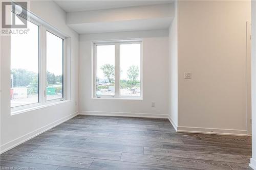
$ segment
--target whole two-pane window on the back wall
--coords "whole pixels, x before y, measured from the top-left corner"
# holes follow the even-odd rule
[[[94,42],[93,97],[142,98],[142,41]]]

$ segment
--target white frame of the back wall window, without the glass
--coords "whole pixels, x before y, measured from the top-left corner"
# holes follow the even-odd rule
[[[120,45],[121,44],[140,44],[140,96],[120,95]],[[115,95],[96,95],[96,69],[97,69],[97,45],[115,45]],[[109,40],[109,41],[92,41],[92,98],[93,99],[126,99],[126,100],[143,100],[143,40]]]

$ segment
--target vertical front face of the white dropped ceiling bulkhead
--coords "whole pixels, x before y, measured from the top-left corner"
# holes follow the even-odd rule
[[[83,16],[83,17],[81,17]],[[67,13],[67,25],[173,17],[172,4],[79,11]]]

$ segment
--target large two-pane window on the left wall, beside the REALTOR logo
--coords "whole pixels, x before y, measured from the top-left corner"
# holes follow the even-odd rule
[[[65,75],[69,38],[32,14],[28,30],[11,35],[11,113],[70,98],[64,91],[70,87]]]

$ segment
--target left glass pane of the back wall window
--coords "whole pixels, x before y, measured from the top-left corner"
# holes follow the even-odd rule
[[[96,45],[96,95],[115,95],[115,45]]]

